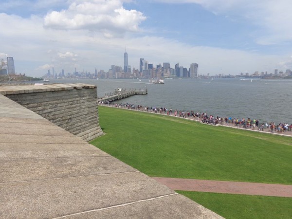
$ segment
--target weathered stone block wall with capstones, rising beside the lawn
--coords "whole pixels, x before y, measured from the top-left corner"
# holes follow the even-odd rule
[[[39,91],[41,86],[37,86],[38,92],[28,90],[6,96],[77,137],[91,141],[103,134],[99,126],[96,86],[70,86],[43,91]]]

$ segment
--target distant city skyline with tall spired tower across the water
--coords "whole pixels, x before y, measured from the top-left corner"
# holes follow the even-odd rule
[[[12,58],[12,57],[11,57]],[[13,59],[13,58],[12,58]],[[227,74],[224,75],[222,73],[217,74],[199,74],[199,64],[198,63],[191,63],[190,67],[184,68],[182,65],[176,63],[174,68],[171,66],[170,62],[164,62],[163,65],[161,63],[153,65],[152,63],[148,63],[145,58],[140,58],[139,62],[139,70],[133,68],[133,71],[130,69],[130,65],[128,65],[128,53],[127,49],[124,53],[124,69],[118,65],[111,65],[109,71],[100,70],[97,71],[95,68],[94,73],[90,71],[82,70],[75,71],[73,73],[68,72],[64,73],[64,69],[62,72],[55,73],[54,67],[52,67],[51,74],[50,69],[48,73],[43,75],[44,78],[213,78],[213,77],[261,77],[261,78],[274,78],[274,77],[281,77],[281,78],[290,78],[292,76],[292,71],[290,69],[286,69],[286,71],[278,71],[278,69],[274,69],[274,73],[266,72],[259,72],[255,71],[254,73],[237,73],[237,74]]]

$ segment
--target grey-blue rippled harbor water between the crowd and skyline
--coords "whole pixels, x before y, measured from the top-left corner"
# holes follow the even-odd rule
[[[116,88],[148,89],[117,101],[135,105],[194,110],[233,118],[258,119],[260,122],[292,123],[292,80],[164,79],[155,85],[147,79],[51,80],[50,83],[88,83],[97,85],[99,97]]]

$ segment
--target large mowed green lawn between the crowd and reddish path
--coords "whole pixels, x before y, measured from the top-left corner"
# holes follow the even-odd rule
[[[148,176],[292,184],[292,138],[99,106],[92,145]]]

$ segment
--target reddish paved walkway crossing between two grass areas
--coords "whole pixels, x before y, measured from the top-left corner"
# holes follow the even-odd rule
[[[292,198],[292,185],[152,177],[173,190]]]

